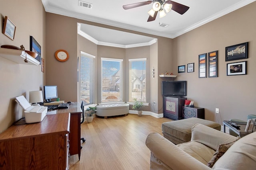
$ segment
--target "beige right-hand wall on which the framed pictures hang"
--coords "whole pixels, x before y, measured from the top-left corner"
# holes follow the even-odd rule
[[[179,73],[176,79],[188,81],[188,99],[195,106],[205,108],[208,120],[216,120],[215,108],[220,109],[223,120],[246,120],[246,115],[256,114],[253,104],[256,100],[255,9],[256,2],[253,2],[174,39],[174,71],[177,73],[178,65],[195,63],[195,72]],[[225,47],[244,42],[249,42],[249,58],[226,62]],[[216,50],[218,77],[198,78],[198,55]],[[248,61],[247,75],[226,76],[227,63],[240,61]]]

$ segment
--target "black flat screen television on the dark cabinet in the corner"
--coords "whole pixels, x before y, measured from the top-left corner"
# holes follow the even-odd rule
[[[162,81],[163,96],[187,96],[187,81]]]

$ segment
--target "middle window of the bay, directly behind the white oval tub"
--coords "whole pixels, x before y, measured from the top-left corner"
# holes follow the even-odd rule
[[[101,102],[122,102],[122,59],[101,58]]]

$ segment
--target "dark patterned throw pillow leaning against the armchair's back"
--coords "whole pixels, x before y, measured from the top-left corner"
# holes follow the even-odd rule
[[[236,137],[236,140],[230,143],[222,143],[218,146],[218,149],[213,154],[212,159],[208,162],[207,166],[212,168],[215,162],[238,140],[240,137]]]

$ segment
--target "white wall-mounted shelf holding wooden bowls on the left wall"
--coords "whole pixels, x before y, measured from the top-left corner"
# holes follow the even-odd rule
[[[24,59],[26,59],[28,63],[24,62]],[[25,51],[22,50],[14,50],[14,49],[6,49],[6,48],[0,48],[0,57],[5,58],[7,60],[13,61],[14,63],[18,64],[30,64],[30,65],[39,65],[40,62],[28,55]]]

